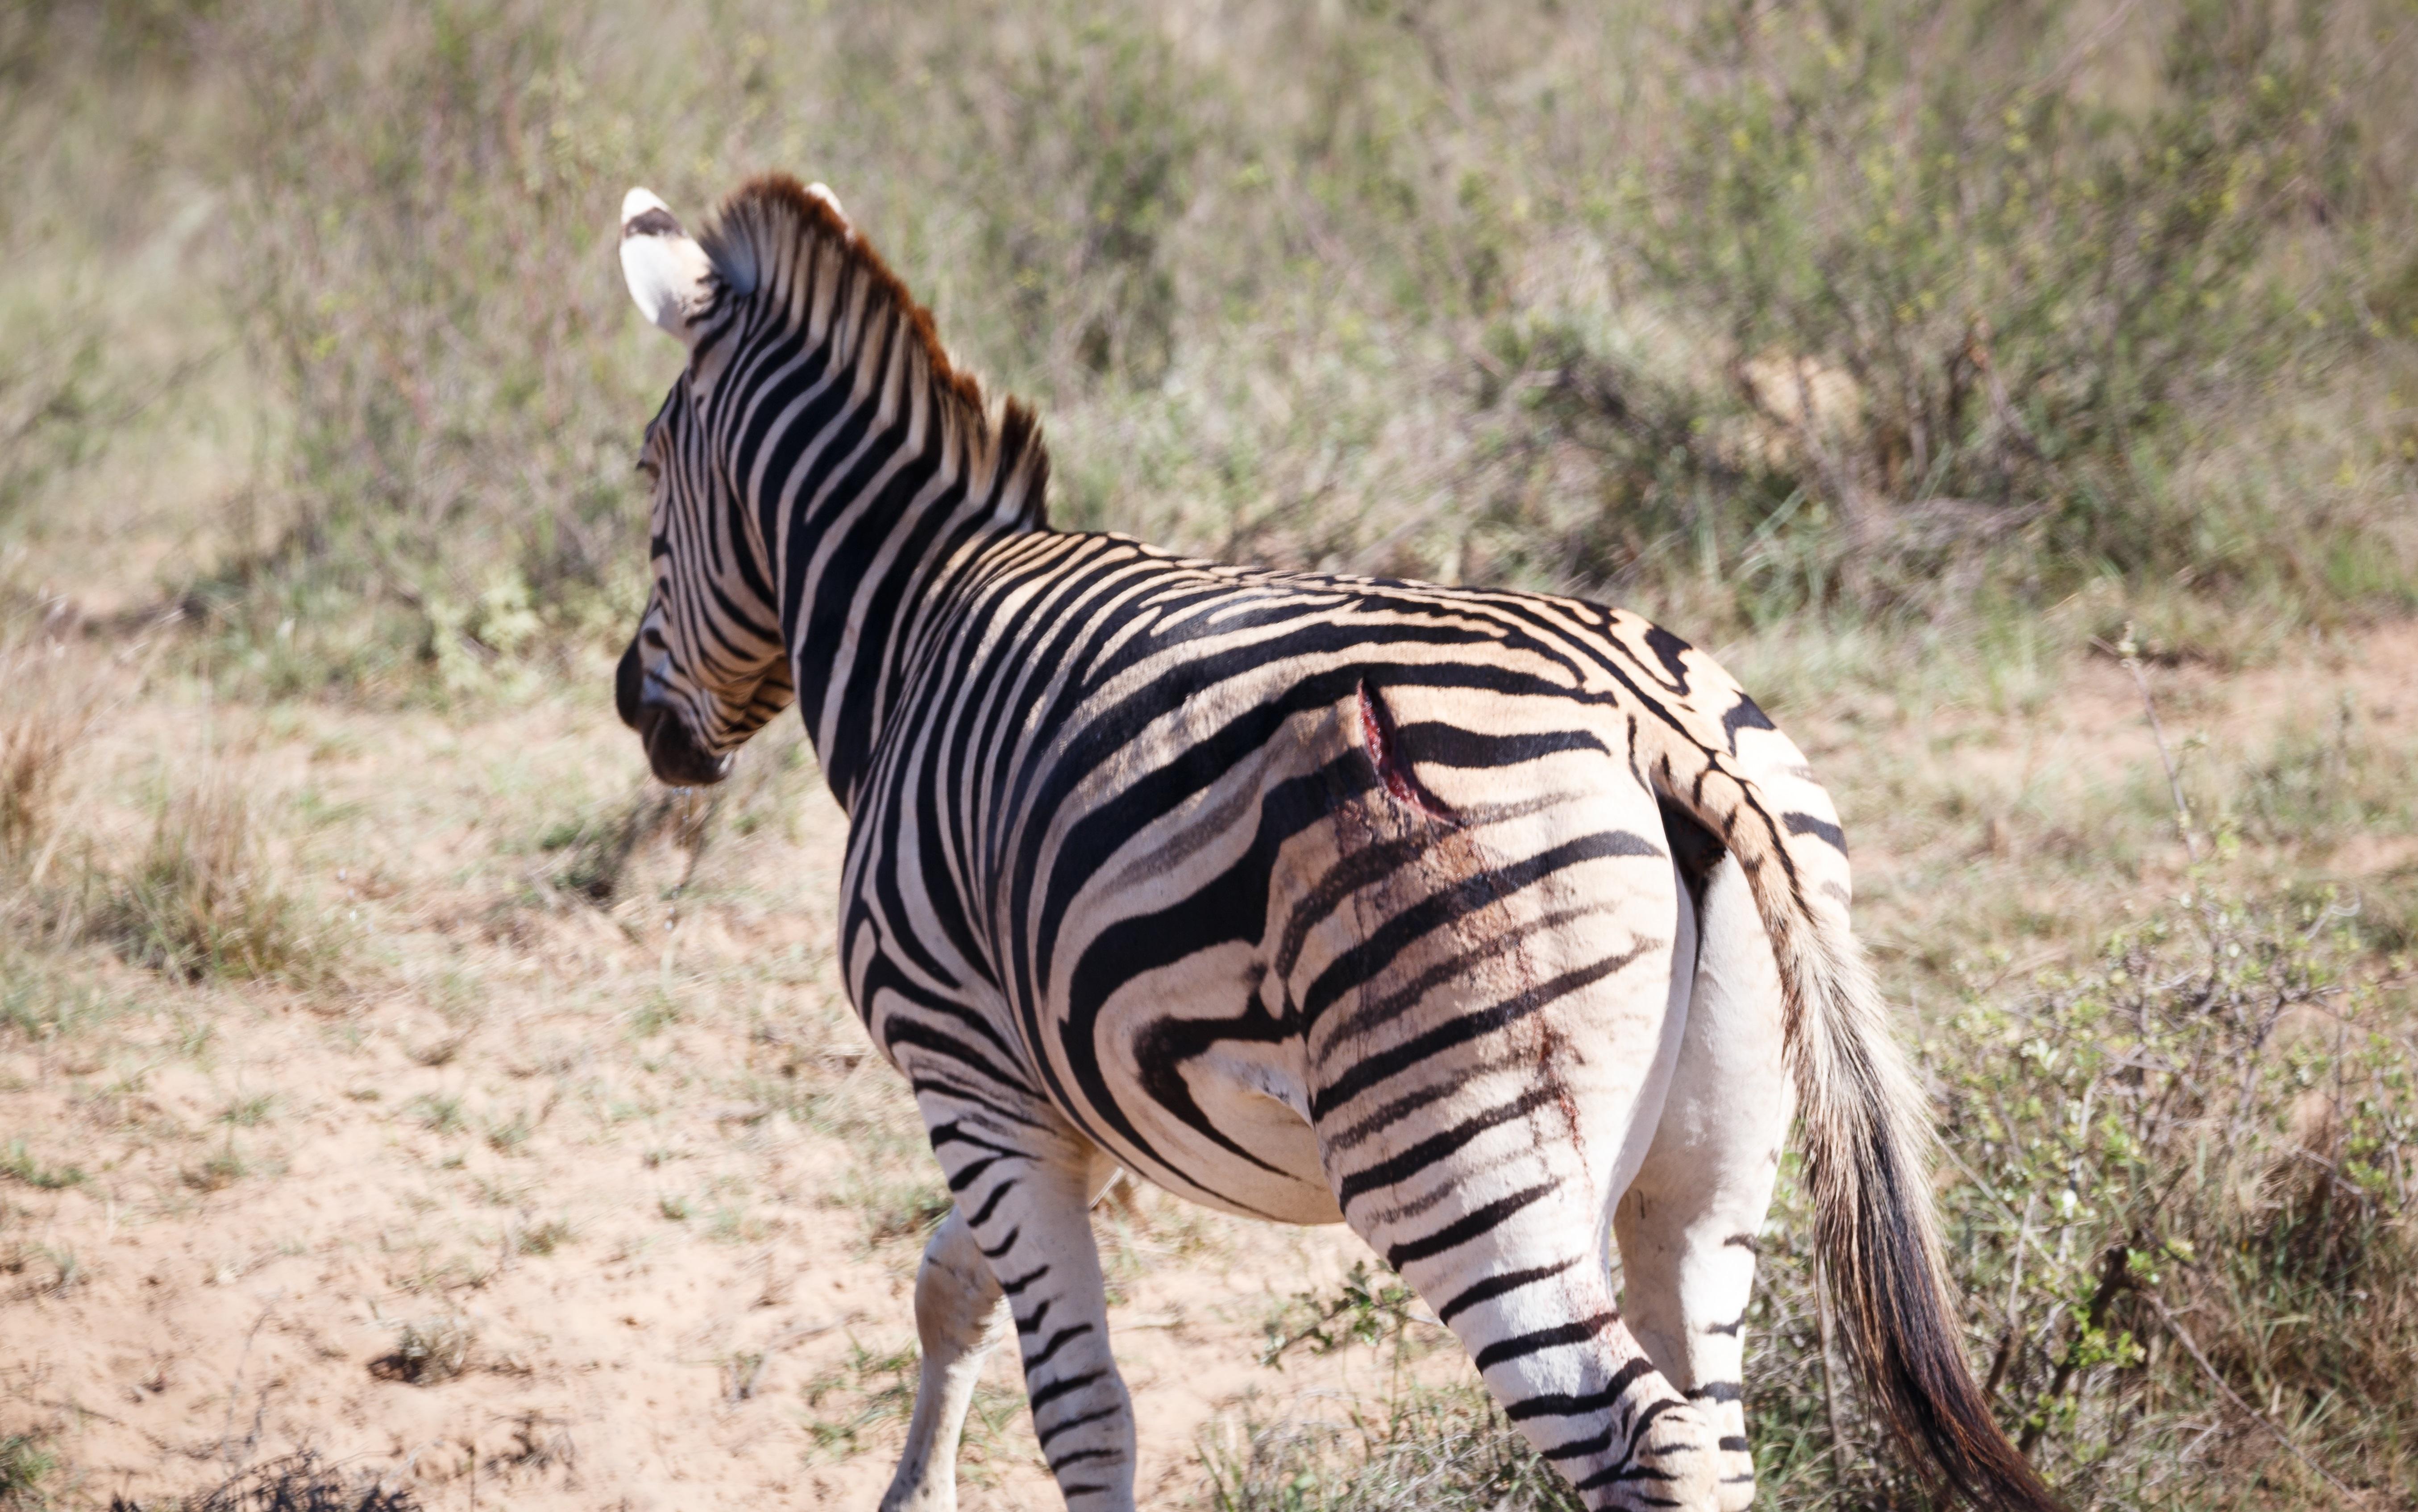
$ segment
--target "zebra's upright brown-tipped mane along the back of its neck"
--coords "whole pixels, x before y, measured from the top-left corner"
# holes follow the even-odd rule
[[[696,239],[733,295],[764,295],[767,280],[786,285],[779,297],[793,326],[808,319],[810,300],[800,297],[805,278],[834,271],[841,300],[851,285],[861,285],[866,295],[861,331],[875,331],[885,319],[904,326],[902,333],[924,360],[933,401],[950,411],[977,456],[991,452],[987,471],[996,488],[1023,483],[1025,524],[1047,527],[1049,449],[1042,444],[1032,406],[1011,394],[999,415],[991,415],[982,379],[948,355],[931,309],[890,271],[863,232],[849,225],[829,196],[805,188],[788,174],[757,174],[713,210]],[[832,254],[829,261],[825,254]]]

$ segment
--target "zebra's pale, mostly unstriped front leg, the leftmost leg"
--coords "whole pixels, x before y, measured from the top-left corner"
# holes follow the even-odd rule
[[[958,1208],[950,1208],[941,1232],[924,1246],[924,1266],[914,1278],[914,1331],[924,1345],[924,1369],[914,1389],[907,1452],[883,1495],[883,1512],[955,1512],[958,1435],[965,1432],[982,1362],[1008,1331],[1006,1295]]]

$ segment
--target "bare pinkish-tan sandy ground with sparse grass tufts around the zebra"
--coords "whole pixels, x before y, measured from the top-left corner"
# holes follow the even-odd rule
[[[266,983],[174,983],[102,944],[15,956],[24,981],[0,983],[73,1002],[0,1029],[0,1437],[58,1456],[46,1490],[157,1507],[310,1447],[423,1507],[870,1507],[938,1196],[829,971],[841,828],[793,737],[711,814],[641,824],[597,901],[580,884],[612,870],[614,826],[665,799],[595,703],[254,710],[123,676],[56,865],[131,865],[157,792],[230,783],[331,944]],[[2171,826],[2135,814],[2164,778],[2130,679],[2060,676],[2034,713],[1792,720],[1857,826],[1884,952],[1988,923],[1959,894],[2087,913],[2171,889]],[[2157,679],[2169,737],[2210,766],[2324,729],[2345,696],[2377,751],[2418,732],[2406,626]],[[2152,838],[2072,903],[2026,855],[2092,814]],[[2331,865],[2406,889],[2411,860],[2403,828]],[[1253,1398],[1383,1389],[1373,1350],[1257,1365],[1274,1309],[1364,1254],[1349,1234],[1158,1193],[1100,1232],[1149,1502],[1199,1498],[1199,1435]],[[1052,1502],[999,1360],[965,1505]]]

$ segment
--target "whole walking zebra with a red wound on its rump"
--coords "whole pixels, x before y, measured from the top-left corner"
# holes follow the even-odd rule
[[[1120,1169],[1349,1225],[1589,1507],[1746,1507],[1797,1111],[1879,1413],[1971,1500],[2055,1507],[1959,1345],[1838,812],[1705,652],[1577,599],[1049,529],[1035,413],[991,408],[822,186],[752,179],[696,237],[634,188],[619,256],[687,348],[621,720],[704,785],[798,705],[849,819],[846,995],[953,1200],[885,1512],[955,1507],[1008,1338],[1066,1505],[1134,1505],[1088,1220]]]

